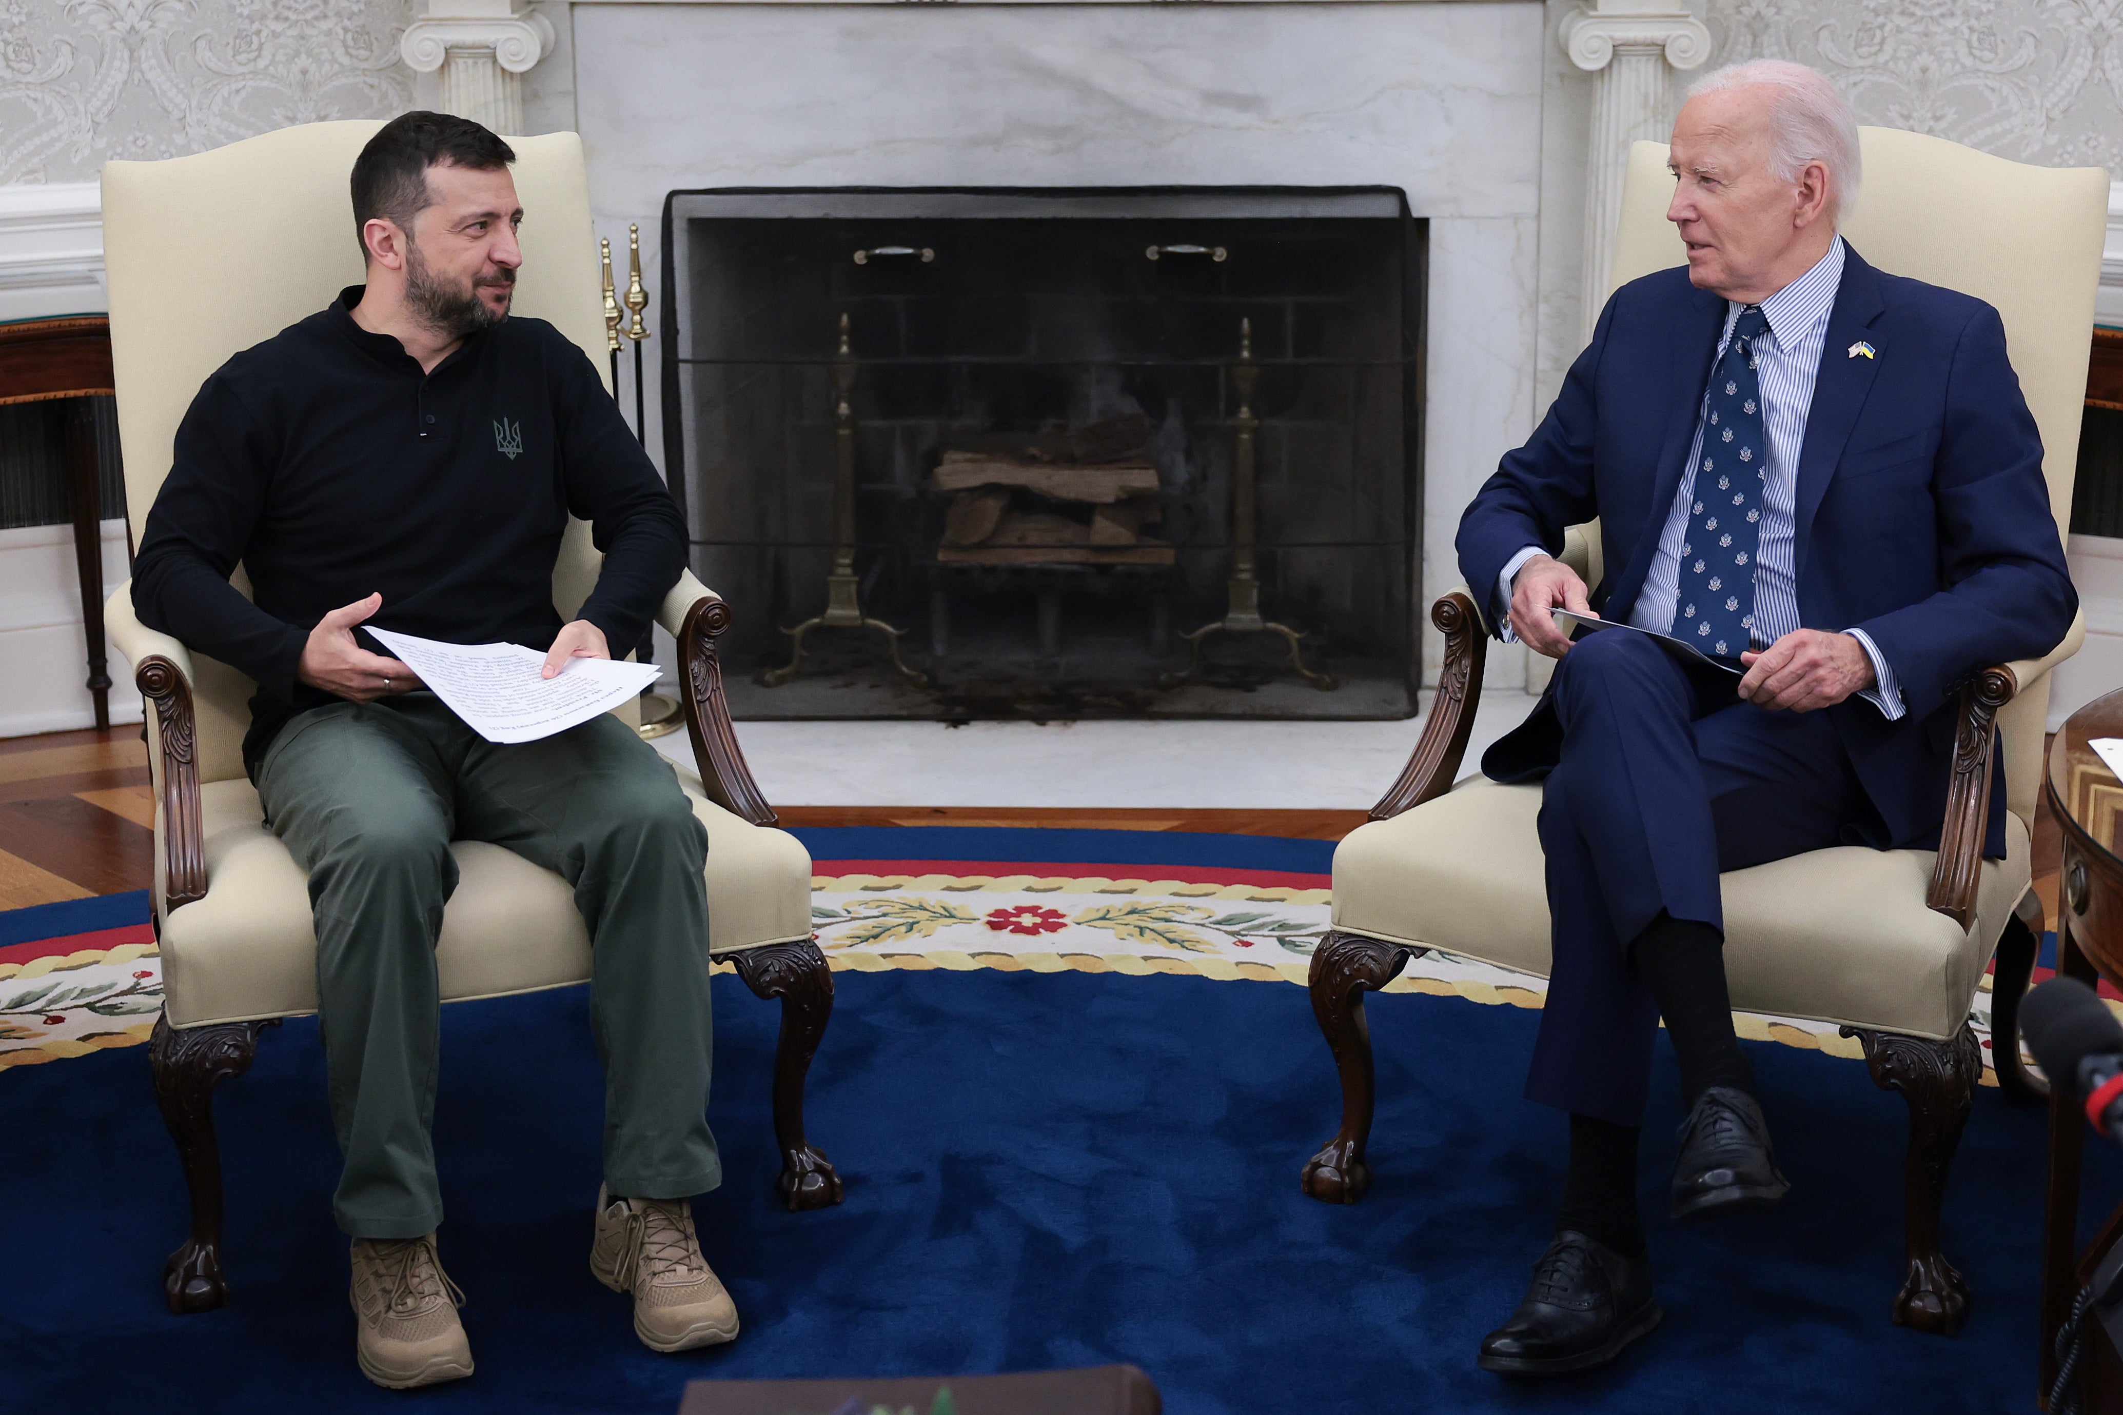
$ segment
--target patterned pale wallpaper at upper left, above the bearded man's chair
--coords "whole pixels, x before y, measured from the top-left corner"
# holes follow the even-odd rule
[[[412,106],[408,0],[0,0],[0,182]]]

